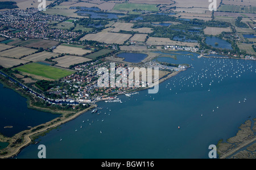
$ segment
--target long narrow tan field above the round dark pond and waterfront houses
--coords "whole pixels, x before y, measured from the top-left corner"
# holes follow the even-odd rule
[[[168,38],[160,37],[149,37],[146,42],[147,45],[180,45],[180,46],[196,46],[199,45],[197,42],[181,42],[173,41]]]

